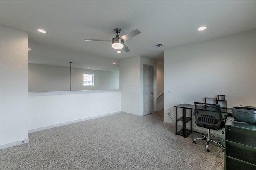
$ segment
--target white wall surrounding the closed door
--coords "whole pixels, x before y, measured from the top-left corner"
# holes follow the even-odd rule
[[[154,66],[154,111],[156,110],[156,61],[137,56],[120,60],[121,111],[143,115],[143,64]]]

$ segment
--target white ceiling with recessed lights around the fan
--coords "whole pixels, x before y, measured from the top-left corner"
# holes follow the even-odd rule
[[[0,24],[28,32],[29,63],[115,70],[127,57],[162,63],[166,49],[255,30],[256,0],[0,0]],[[142,32],[125,41],[130,52],[84,41],[110,40],[115,28]]]

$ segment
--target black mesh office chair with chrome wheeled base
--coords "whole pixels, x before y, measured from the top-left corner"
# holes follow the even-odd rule
[[[208,129],[208,136],[202,136],[201,138],[196,138],[193,143],[196,143],[197,139],[206,140],[205,149],[209,152],[208,146],[209,142],[212,141],[217,143],[222,147],[222,152],[224,152],[225,147],[220,143],[219,139],[212,139],[210,129],[220,130],[225,126],[227,115],[222,117],[222,111],[219,104],[207,104],[195,102],[194,115],[196,118],[196,125]],[[224,132],[222,131],[224,134]]]

